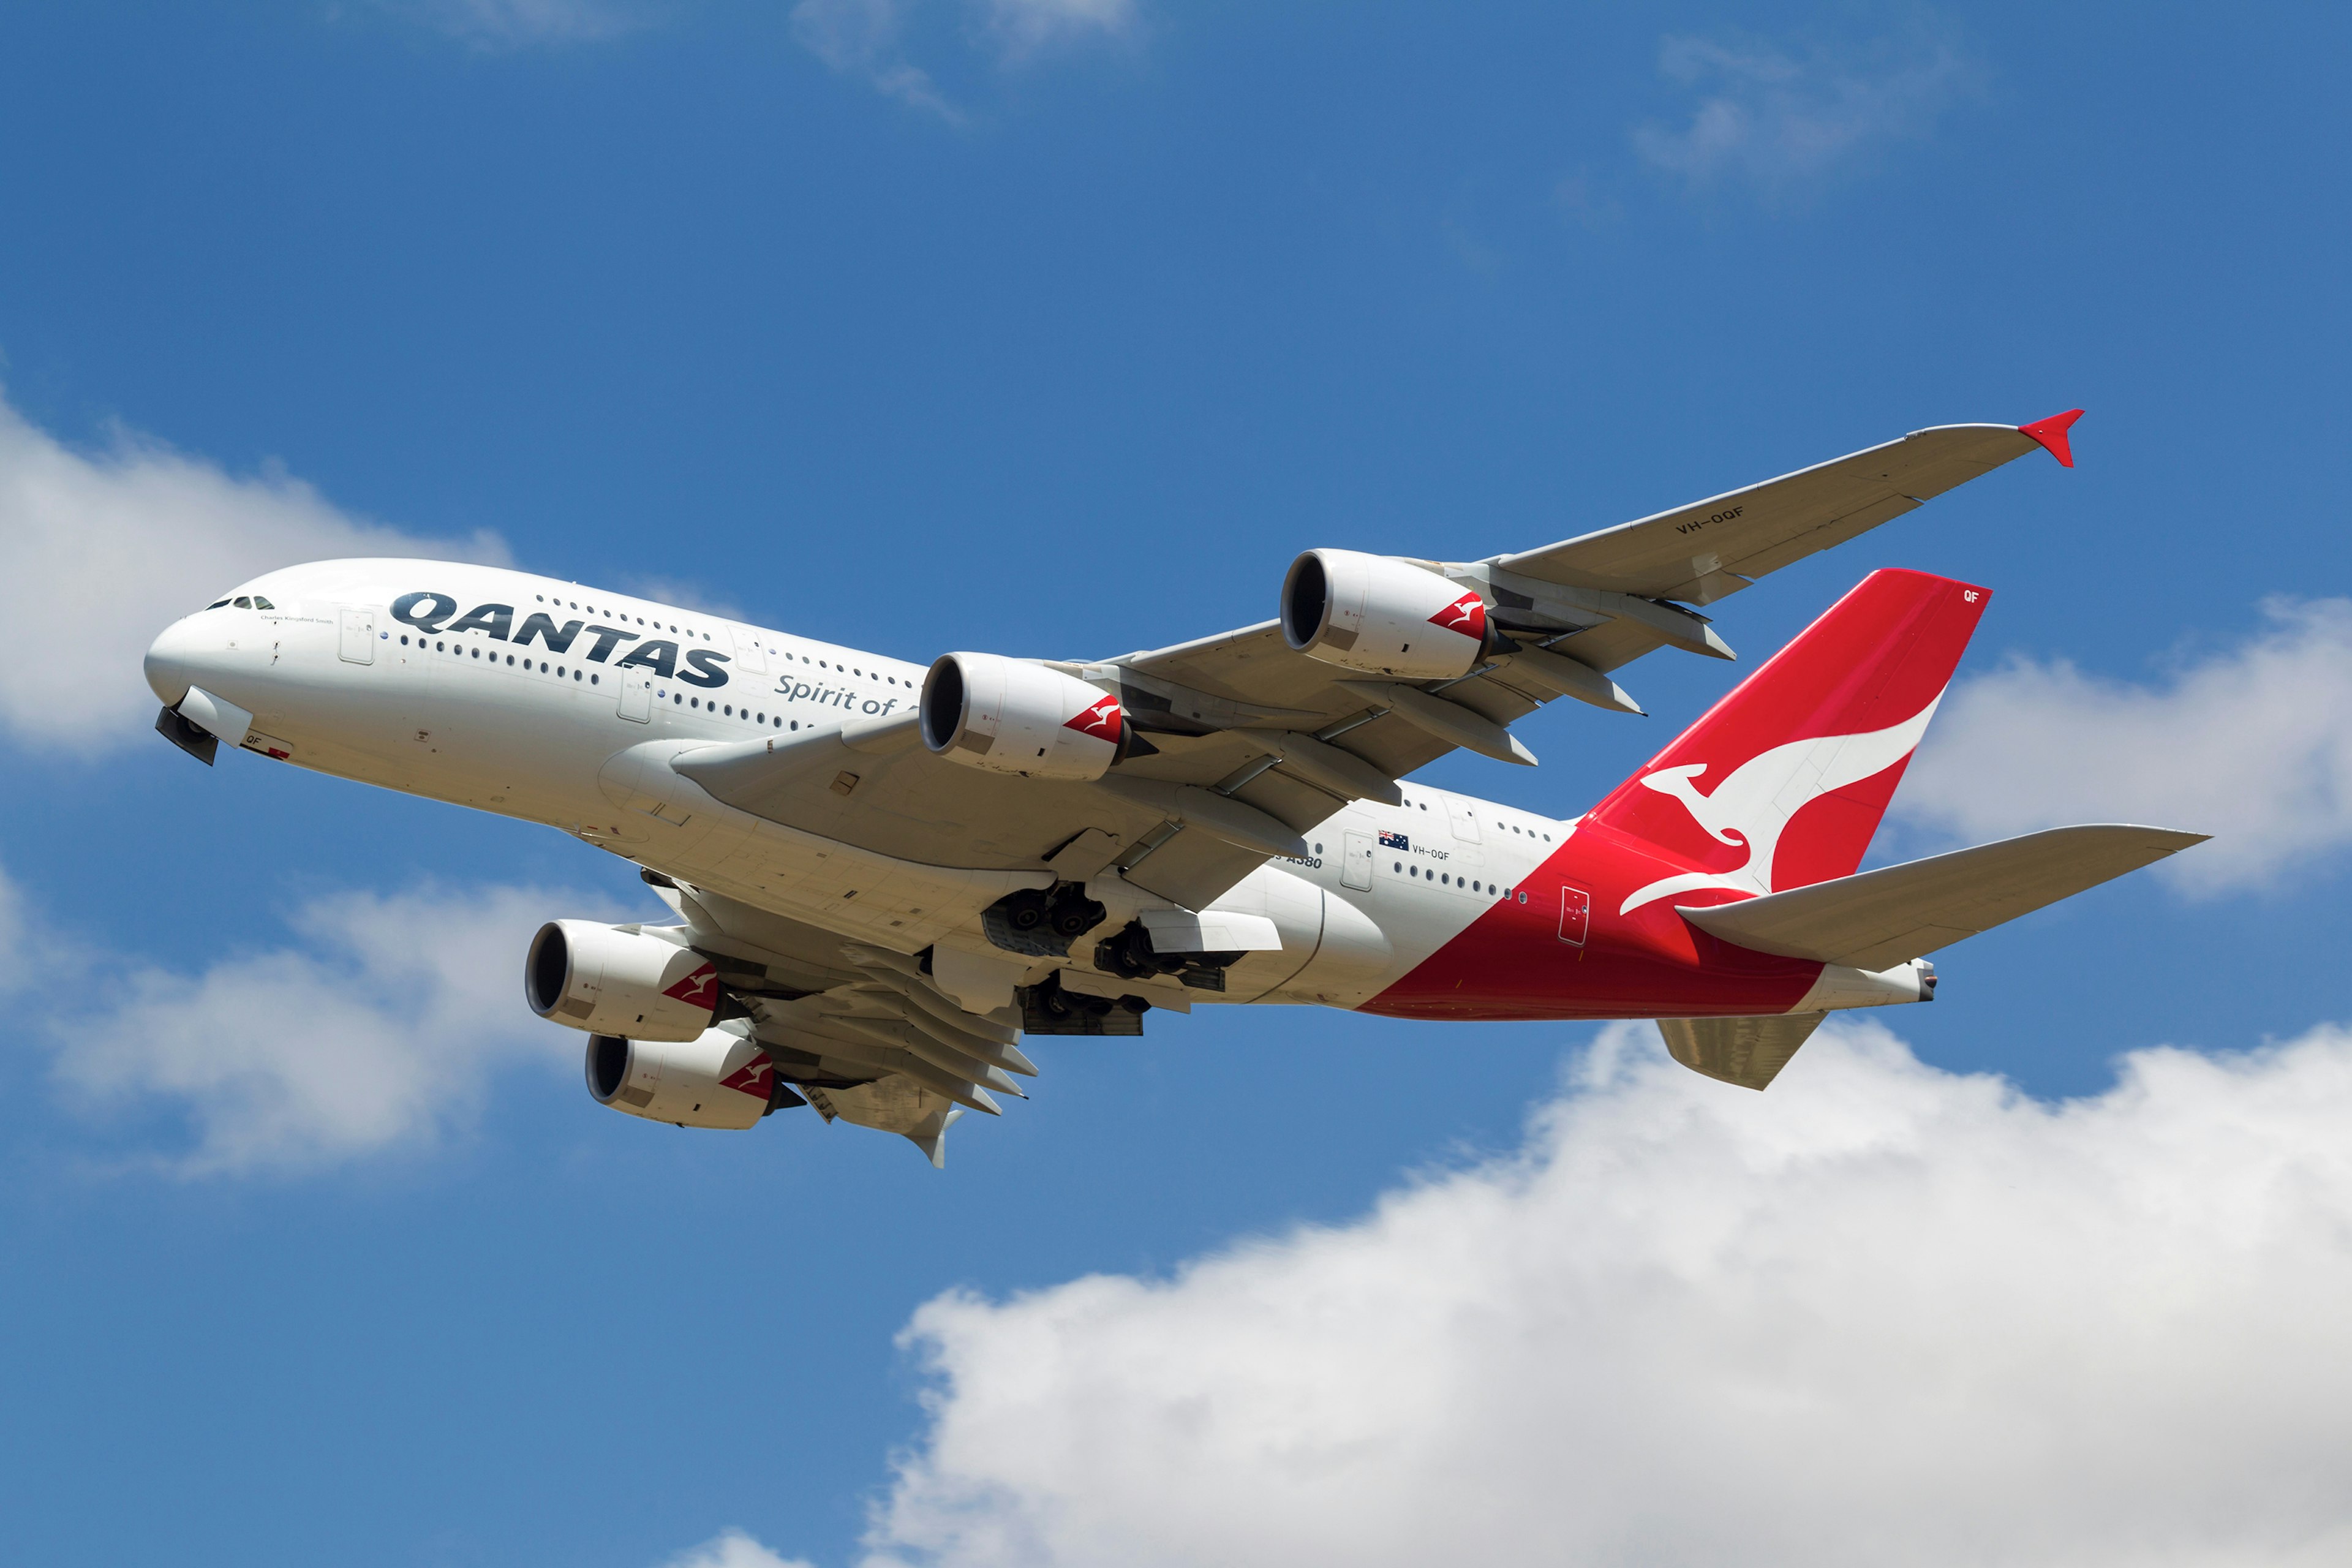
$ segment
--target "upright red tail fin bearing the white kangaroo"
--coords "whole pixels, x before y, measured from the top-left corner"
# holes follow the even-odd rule
[[[1851,875],[1990,597],[1924,571],[1872,571],[1621,783],[1585,823],[1698,867],[1625,907]]]

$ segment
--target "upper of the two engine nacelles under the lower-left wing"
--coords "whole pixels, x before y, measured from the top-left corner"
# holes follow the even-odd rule
[[[720,1006],[710,959],[628,926],[550,919],[522,964],[532,1011],[590,1034],[699,1039]]]

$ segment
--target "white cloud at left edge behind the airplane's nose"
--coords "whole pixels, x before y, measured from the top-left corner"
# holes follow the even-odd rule
[[[477,534],[435,541],[339,512],[285,473],[235,477],[115,433],[75,451],[0,397],[0,726],[26,748],[92,755],[153,741],[146,646],[221,588],[339,555],[506,559]]]

